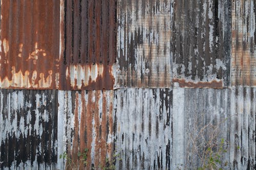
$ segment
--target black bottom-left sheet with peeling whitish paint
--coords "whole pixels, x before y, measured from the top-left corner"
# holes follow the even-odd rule
[[[57,91],[0,90],[0,168],[55,169]]]

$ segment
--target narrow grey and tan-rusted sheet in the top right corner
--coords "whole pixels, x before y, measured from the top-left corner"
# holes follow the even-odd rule
[[[256,86],[255,8],[255,1],[232,1],[232,86]]]

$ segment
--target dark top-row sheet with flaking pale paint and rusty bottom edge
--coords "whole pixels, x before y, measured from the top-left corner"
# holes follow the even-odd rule
[[[230,84],[231,2],[175,0],[173,82],[180,87]]]

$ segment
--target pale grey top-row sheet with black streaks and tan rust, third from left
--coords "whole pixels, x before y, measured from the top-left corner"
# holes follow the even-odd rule
[[[117,1],[115,88],[170,87],[173,1]]]

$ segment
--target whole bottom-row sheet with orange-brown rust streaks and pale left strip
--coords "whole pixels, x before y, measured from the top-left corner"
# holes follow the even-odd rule
[[[59,91],[58,96],[58,116],[63,118],[58,122],[58,155],[67,151],[76,164],[77,153],[89,149],[86,168],[104,167],[114,155],[114,92]],[[57,166],[63,169],[67,162],[59,159]]]

